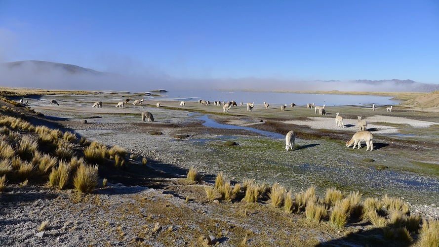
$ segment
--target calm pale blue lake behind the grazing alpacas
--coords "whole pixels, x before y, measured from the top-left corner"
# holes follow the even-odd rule
[[[390,96],[374,95],[344,95],[344,94],[312,94],[312,93],[292,93],[292,92],[248,92],[248,91],[227,91],[227,90],[180,90],[162,93],[163,100],[184,100],[198,101],[236,101],[255,102],[262,104],[264,101],[270,105],[282,105],[295,103],[296,105],[306,105],[315,103],[316,105],[342,106],[342,105],[397,105],[402,101],[391,100]]]

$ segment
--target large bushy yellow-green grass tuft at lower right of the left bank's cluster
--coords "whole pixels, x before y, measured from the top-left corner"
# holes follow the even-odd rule
[[[98,166],[81,164],[73,178],[73,185],[82,193],[90,193],[98,184]]]

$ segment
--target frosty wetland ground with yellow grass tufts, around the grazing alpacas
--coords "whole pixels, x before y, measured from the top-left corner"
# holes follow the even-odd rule
[[[144,93],[20,93],[28,107],[11,104],[22,96],[9,94],[0,109],[2,120],[22,119],[2,124],[2,149],[17,150],[2,152],[0,198],[8,215],[28,220],[18,223],[22,236],[1,236],[4,243],[48,244],[58,236],[60,245],[198,246],[213,237],[224,246],[429,246],[439,238],[429,230],[439,217],[437,112],[326,106],[326,116],[319,116],[303,105],[281,111],[256,102],[251,112],[235,106],[225,114],[220,106],[187,101],[179,107]],[[146,100],[115,107],[126,98]],[[60,106],[50,106],[52,99]],[[92,108],[95,101],[103,107]],[[142,111],[155,121],[142,122]],[[335,126],[337,112],[345,128]],[[206,115],[247,129],[204,126],[200,116]],[[357,116],[373,133],[373,151],[364,143],[345,146],[358,131]],[[289,130],[297,137],[287,152],[282,136]],[[29,151],[34,155],[19,144],[27,135],[38,140]],[[42,216],[23,210],[41,205]],[[69,217],[59,218],[65,210]],[[46,220],[46,237],[34,237]]]

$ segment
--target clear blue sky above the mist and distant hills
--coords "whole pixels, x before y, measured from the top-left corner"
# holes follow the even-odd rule
[[[439,83],[438,0],[0,0],[0,62],[182,79]]]

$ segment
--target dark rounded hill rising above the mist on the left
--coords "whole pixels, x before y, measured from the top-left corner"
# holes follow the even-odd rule
[[[99,72],[92,69],[82,68],[77,65],[64,64],[64,63],[54,63],[47,61],[37,61],[37,60],[27,60],[3,63],[4,67],[16,70],[16,69],[32,69],[35,73],[44,73],[51,71],[65,72],[71,75],[93,75],[93,76],[109,76],[111,73]]]

